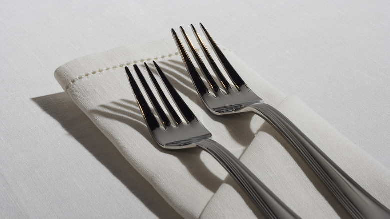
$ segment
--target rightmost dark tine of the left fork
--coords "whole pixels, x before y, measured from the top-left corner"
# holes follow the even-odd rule
[[[191,109],[185,104],[184,100],[180,97],[180,95],[177,93],[176,89],[172,86],[172,84],[169,82],[168,78],[166,78],[164,72],[162,72],[161,68],[157,65],[155,61],[153,61],[155,68],[158,71],[158,74],[160,75],[162,82],[165,84],[166,89],[169,91],[170,95],[172,96],[173,101],[176,103],[177,108],[180,110],[181,114],[184,116],[186,121],[189,123],[194,118],[195,115],[192,113]],[[204,84],[203,84],[204,86]]]

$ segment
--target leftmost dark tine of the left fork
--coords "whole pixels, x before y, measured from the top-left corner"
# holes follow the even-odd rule
[[[139,108],[141,109],[143,118],[145,118],[147,126],[150,128],[150,130],[157,129],[160,125],[157,119],[154,117],[154,114],[151,111],[149,105],[147,104],[145,98],[143,97],[141,90],[139,89],[137,83],[134,80],[134,77],[132,76],[127,66],[124,67],[124,69],[126,70],[128,80],[130,81],[131,88],[134,91],[135,98],[137,99]]]

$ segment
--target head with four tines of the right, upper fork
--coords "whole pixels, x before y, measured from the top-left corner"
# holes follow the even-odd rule
[[[264,101],[260,97],[258,97],[253,91],[251,91],[249,87],[245,84],[245,82],[242,80],[242,78],[238,75],[238,73],[235,71],[233,66],[227,60],[225,55],[222,53],[222,51],[219,49],[215,41],[211,38],[210,34],[207,32],[207,30],[201,23],[200,26],[209,44],[211,45],[220,63],[222,64],[226,74],[230,77],[232,85],[229,84],[228,80],[225,78],[225,76],[211,57],[203,40],[201,39],[200,35],[192,24],[191,28],[194,32],[194,35],[196,36],[200,48],[203,51],[203,54],[206,57],[210,67],[215,73],[215,77],[220,85],[215,82],[213,76],[210,74],[206,65],[200,58],[199,54],[197,53],[195,47],[193,46],[188,35],[185,33],[184,29],[180,26],[180,30],[185,38],[185,41],[187,42],[187,45],[190,48],[194,59],[198,64],[199,69],[202,72],[203,77],[207,81],[208,86],[210,88],[207,88],[207,86],[203,83],[201,76],[197,72],[195,66],[193,65],[191,59],[189,58],[187,52],[181,44],[180,39],[178,38],[174,29],[172,29],[172,34],[176,42],[177,48],[184,61],[184,64],[189,72],[189,75],[192,78],[192,82],[194,83],[196,90],[198,91],[201,99],[203,100],[203,103],[207,106],[207,108],[212,113],[219,115],[251,111],[251,105],[263,103]]]

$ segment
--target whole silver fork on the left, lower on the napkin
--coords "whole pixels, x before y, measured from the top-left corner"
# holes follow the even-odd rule
[[[161,108],[138,66],[134,65],[135,72],[138,75],[138,78],[146,91],[157,116],[160,118],[162,125],[159,124],[151,111],[149,104],[143,97],[142,92],[140,91],[128,67],[125,67],[125,70],[146,125],[158,145],[164,149],[172,150],[191,147],[201,148],[211,154],[227,170],[227,172],[230,173],[230,175],[252,198],[256,206],[266,216],[268,216],[268,218],[298,218],[298,216],[278,197],[276,197],[276,195],[273,194],[272,191],[270,191],[241,161],[239,161],[222,145],[210,139],[211,133],[202,125],[202,123],[200,123],[200,121],[192,113],[191,109],[189,109],[189,107],[185,104],[157,63],[154,61],[153,63],[161,77],[161,80],[165,84],[165,87],[179,109],[179,112],[184,118],[184,121],[180,119],[179,115],[159,86],[150,68],[146,63],[144,63],[150,79],[158,91],[158,94],[175,125],[172,125],[168,116]]]

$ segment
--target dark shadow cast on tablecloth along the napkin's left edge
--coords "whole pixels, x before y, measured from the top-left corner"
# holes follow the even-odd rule
[[[158,217],[180,217],[65,93],[32,98]],[[131,174],[129,174],[131,173]],[[136,179],[136,180],[134,180]],[[146,189],[147,188],[147,189]],[[152,190],[151,190],[152,189]],[[158,204],[155,204],[158,202]]]

